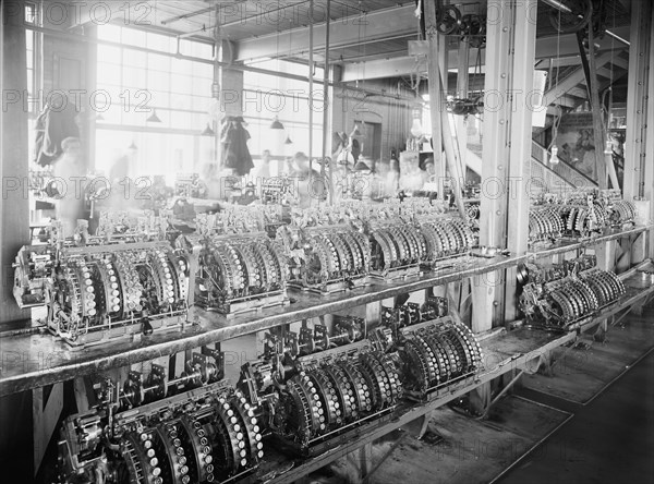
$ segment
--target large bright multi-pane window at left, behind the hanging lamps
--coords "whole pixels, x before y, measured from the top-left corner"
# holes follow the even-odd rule
[[[111,24],[98,26],[98,41],[96,169],[109,172],[134,144],[130,176],[164,174],[172,183],[178,172],[202,171],[213,161],[214,138],[201,134],[211,98],[213,46],[183,40],[182,53],[207,62],[178,59],[174,37]],[[160,122],[148,122],[155,112]]]

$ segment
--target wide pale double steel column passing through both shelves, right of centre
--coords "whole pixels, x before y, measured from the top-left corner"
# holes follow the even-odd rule
[[[529,160],[536,32],[536,0],[489,0],[482,147],[480,243],[524,253],[528,237]],[[474,280],[474,330],[514,316],[514,275],[491,273]]]

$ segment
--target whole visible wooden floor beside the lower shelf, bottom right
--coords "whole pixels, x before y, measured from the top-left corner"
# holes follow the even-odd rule
[[[371,467],[380,463],[366,482],[654,482],[654,308],[609,328],[605,343],[582,341],[558,349],[553,375],[525,376],[485,421],[439,409],[422,440],[405,428],[375,443]],[[306,482],[358,482],[356,459]]]

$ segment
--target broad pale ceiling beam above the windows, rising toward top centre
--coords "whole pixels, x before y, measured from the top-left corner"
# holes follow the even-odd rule
[[[377,10],[366,15],[351,15],[331,22],[330,48],[355,45],[361,41],[384,40],[391,36],[416,33],[414,4]],[[314,50],[325,49],[326,24],[313,26]],[[293,28],[237,43],[237,61],[249,61],[280,53],[293,56],[306,50],[310,28]]]

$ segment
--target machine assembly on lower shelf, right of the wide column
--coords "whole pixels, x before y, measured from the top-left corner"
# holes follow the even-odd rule
[[[594,255],[547,267],[521,265],[518,282],[523,285],[520,307],[528,322],[560,329],[596,315],[626,292],[619,277],[596,267]]]

